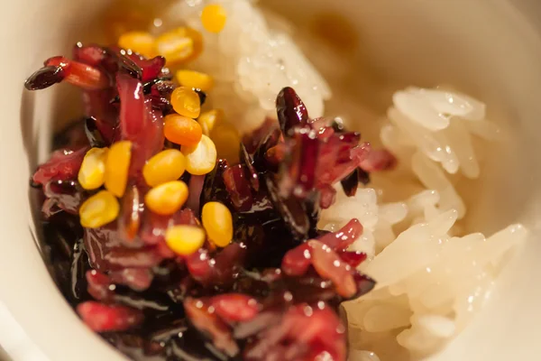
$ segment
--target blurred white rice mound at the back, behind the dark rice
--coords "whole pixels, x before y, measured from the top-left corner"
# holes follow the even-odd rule
[[[181,0],[168,8],[164,23],[183,22],[203,33],[205,51],[190,64],[215,78],[212,105],[225,110],[241,132],[276,116],[281,88],[295,88],[311,117],[323,116],[331,91],[287,32],[271,29],[250,0]],[[199,14],[207,4],[223,5],[227,21],[222,32],[206,32]],[[168,21],[170,19],[170,21]]]

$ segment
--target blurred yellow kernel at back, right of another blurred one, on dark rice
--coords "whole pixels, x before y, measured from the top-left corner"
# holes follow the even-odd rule
[[[161,34],[156,39],[156,48],[167,60],[168,66],[196,59],[203,51],[203,37],[197,30],[180,27]]]

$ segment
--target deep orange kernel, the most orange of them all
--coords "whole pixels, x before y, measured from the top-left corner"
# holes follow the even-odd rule
[[[201,140],[201,125],[192,118],[170,114],[163,121],[163,134],[171,143],[195,146]]]

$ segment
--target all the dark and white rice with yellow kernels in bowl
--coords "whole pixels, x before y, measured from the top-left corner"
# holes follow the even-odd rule
[[[84,118],[32,177],[53,274],[81,319],[134,359],[443,347],[526,234],[455,225],[454,185],[481,171],[474,137],[501,133],[484,106],[400,90],[384,148],[361,143],[323,117],[326,81],[250,2],[178,5],[183,26],[78,43],[26,81],[82,89]],[[388,192],[401,200],[381,203]]]

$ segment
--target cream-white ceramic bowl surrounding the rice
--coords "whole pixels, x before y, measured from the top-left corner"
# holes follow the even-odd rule
[[[23,90],[47,57],[65,53],[105,0],[19,0],[4,4],[0,122],[0,300],[51,360],[116,360],[122,356],[69,309],[42,264],[33,240],[30,172],[47,157],[52,120],[73,97],[59,88]],[[394,83],[449,83],[486,101],[492,118],[507,120],[517,143],[494,153],[472,208],[482,230],[520,221],[532,231],[500,280],[488,306],[435,360],[537,359],[541,325],[541,4],[536,0],[268,0],[283,13],[333,8],[353,21],[365,53],[363,69]],[[308,4],[303,7],[301,3]],[[295,9],[302,9],[295,13]],[[298,23],[302,23],[299,21]],[[355,69],[352,69],[355,71]],[[64,90],[66,88],[63,88]],[[76,92],[74,92],[75,94]],[[0,326],[1,327],[1,326]]]

